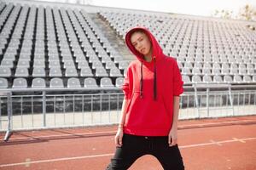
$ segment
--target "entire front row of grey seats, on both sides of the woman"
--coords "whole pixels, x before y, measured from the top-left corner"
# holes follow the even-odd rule
[[[84,81],[84,84],[81,83],[81,81]],[[87,78],[77,78],[77,77],[70,77],[67,79],[67,83],[64,85],[63,79],[59,77],[51,78],[49,81],[49,88],[113,88],[117,87],[120,88],[120,86],[124,82],[124,77],[117,77],[113,83],[113,80],[109,77],[102,77],[100,79],[100,83],[96,82],[96,78],[94,77],[87,77]],[[209,76],[209,75],[204,75],[201,79],[200,76],[198,75],[193,75],[193,76],[188,76],[188,75],[183,75],[183,82],[184,85],[189,85],[192,83],[223,83],[223,82],[228,82],[228,83],[251,83],[251,82],[256,82],[256,75],[253,76],[230,76],[230,75],[225,75],[225,76],[219,76],[219,75],[214,75],[214,76]],[[44,78],[33,78],[32,79],[32,84],[31,88],[48,88],[46,85],[46,80]],[[0,78],[0,88],[10,88],[9,87],[9,82],[6,78]],[[26,78],[15,78],[13,80],[11,88],[28,88],[28,81]]]

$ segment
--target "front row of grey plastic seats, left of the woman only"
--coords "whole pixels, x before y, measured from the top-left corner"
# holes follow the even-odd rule
[[[49,81],[49,87],[44,78],[33,78],[31,88],[115,88],[120,87],[124,82],[124,77],[116,78],[113,83],[112,79],[109,77],[102,77],[99,84],[96,82],[96,78],[88,77],[84,79],[79,79],[77,77],[71,77],[67,79],[67,83],[62,78],[55,77],[51,78]],[[83,82],[83,83],[81,83]],[[0,77],[0,88],[29,88],[28,81],[26,78],[15,78],[12,82],[11,87],[9,87],[9,82],[6,78]]]

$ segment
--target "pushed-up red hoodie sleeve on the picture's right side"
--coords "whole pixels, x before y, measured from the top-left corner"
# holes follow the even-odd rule
[[[183,80],[176,60],[173,65],[173,73],[173,95],[179,96],[180,94],[183,94]]]

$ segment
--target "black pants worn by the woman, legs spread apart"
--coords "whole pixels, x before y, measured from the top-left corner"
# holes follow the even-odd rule
[[[183,170],[178,146],[170,147],[168,137],[143,137],[124,134],[123,145],[117,147],[106,170],[126,170],[144,155],[155,156],[165,170]]]

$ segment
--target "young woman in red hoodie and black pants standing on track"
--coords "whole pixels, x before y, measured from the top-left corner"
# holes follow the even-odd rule
[[[183,81],[177,62],[163,54],[143,27],[127,32],[125,42],[137,60],[128,67],[116,151],[107,169],[125,170],[140,156],[155,156],[164,169],[183,170],[177,146],[177,116]]]

